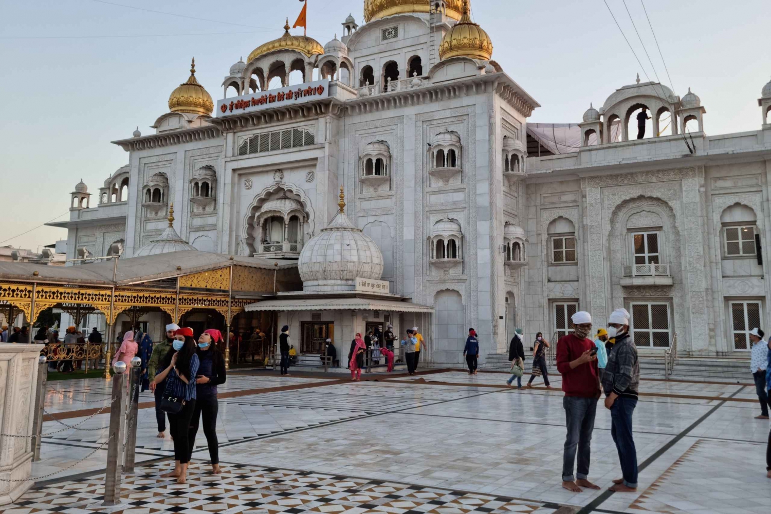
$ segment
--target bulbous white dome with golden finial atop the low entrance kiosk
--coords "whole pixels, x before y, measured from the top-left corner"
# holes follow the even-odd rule
[[[302,248],[298,271],[303,291],[353,291],[356,278],[380,280],[383,256],[380,248],[340,211]]]

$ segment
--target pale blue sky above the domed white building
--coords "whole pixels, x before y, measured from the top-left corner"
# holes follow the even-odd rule
[[[322,45],[339,37],[348,12],[363,21],[362,4],[308,0],[308,35]],[[608,5],[643,69],[603,0],[472,0],[474,20],[493,39],[493,59],[543,106],[530,121],[578,122],[589,102],[601,106],[636,73],[655,80],[624,3]],[[626,5],[669,85],[640,0]],[[295,0],[0,0],[0,241],[67,213],[81,178],[97,193],[128,162],[109,141],[131,136],[135,126],[153,131],[169,93],[187,79],[191,56],[216,102],[231,64],[281,35],[284,18],[293,22],[300,8]],[[645,8],[675,92],[683,96],[690,86],[702,99],[705,131],[759,129],[757,99],[771,78],[771,2],[645,0]],[[82,37],[105,35],[130,37]],[[2,244],[38,249],[64,237],[66,230],[41,227]]]

